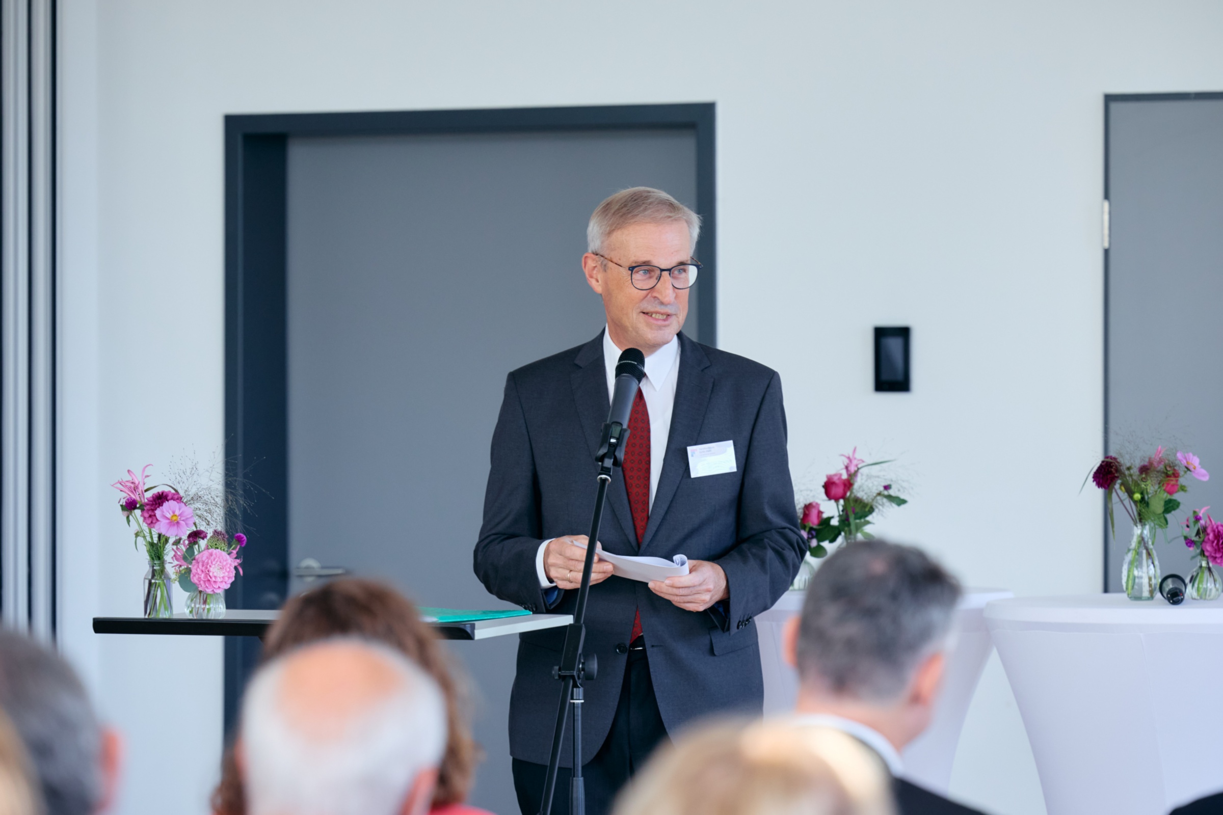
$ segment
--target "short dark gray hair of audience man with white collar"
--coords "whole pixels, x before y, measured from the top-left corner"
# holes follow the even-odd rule
[[[799,677],[837,694],[890,701],[951,630],[960,584],[918,549],[865,540],[807,584]]]

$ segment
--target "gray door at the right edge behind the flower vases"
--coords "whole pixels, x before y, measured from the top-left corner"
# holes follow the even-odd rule
[[[1192,568],[1177,534],[1184,510],[1223,521],[1223,94],[1112,98],[1107,294],[1109,451],[1164,444],[1212,473],[1189,479],[1157,545],[1164,574]],[[1090,488],[1090,485],[1088,485]],[[1132,527],[1117,513],[1106,585],[1120,591]]]

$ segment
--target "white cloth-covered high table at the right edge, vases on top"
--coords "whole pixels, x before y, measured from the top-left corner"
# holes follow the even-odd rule
[[[998,600],[986,624],[1048,815],[1163,815],[1223,789],[1223,600]]]

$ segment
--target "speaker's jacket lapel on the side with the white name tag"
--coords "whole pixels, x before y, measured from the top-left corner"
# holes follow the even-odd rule
[[[654,490],[654,505],[649,508],[649,523],[641,540],[645,550],[654,536],[654,532],[667,513],[675,490],[680,486],[687,472],[687,448],[697,444],[701,425],[704,422],[704,409],[713,392],[713,374],[709,358],[701,346],[680,334],[680,373],[675,384],[675,407],[671,409],[671,430],[667,436],[667,457],[663,459],[663,472],[658,477],[658,489]],[[604,384],[604,391],[607,385]],[[609,407],[610,409],[610,407]],[[596,444],[598,441],[596,440]],[[627,497],[625,499],[627,503]]]

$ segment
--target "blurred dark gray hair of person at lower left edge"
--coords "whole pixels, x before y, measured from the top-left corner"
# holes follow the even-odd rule
[[[46,815],[91,815],[102,800],[102,726],[68,663],[0,632],[0,706],[24,742]]]

